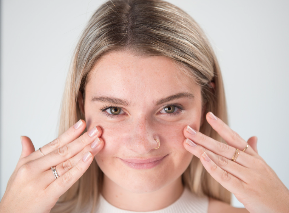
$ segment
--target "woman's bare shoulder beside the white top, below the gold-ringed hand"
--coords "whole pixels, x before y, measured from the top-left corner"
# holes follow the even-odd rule
[[[244,208],[236,208],[230,206],[228,203],[218,201],[214,198],[209,198],[208,213],[249,213]]]

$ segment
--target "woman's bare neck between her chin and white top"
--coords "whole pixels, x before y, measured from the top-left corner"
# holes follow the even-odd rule
[[[183,189],[181,176],[154,192],[135,193],[123,189],[104,175],[101,193],[107,202],[119,209],[147,212],[171,205],[180,198]]]

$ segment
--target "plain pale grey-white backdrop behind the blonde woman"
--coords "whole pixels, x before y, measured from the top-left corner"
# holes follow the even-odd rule
[[[1,1],[0,198],[21,154],[57,137],[72,51],[104,1]],[[220,62],[229,123],[289,187],[288,1],[171,0],[208,35]],[[33,174],[31,174],[33,175]],[[269,192],[270,193],[270,192]],[[235,198],[234,206],[242,206]]]

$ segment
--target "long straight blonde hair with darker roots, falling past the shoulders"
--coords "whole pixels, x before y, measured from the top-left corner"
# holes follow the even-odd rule
[[[183,10],[160,0],[112,0],[90,18],[74,52],[67,76],[59,134],[81,119],[78,93],[84,94],[89,71],[110,51],[131,51],[140,56],[165,56],[189,80],[201,86],[203,109],[227,123],[220,68],[208,39]],[[214,82],[215,89],[210,82]],[[204,119],[200,131],[224,142]],[[94,212],[103,173],[95,160],[84,175],[58,200],[51,212]],[[183,173],[183,183],[197,195],[231,202],[231,193],[193,157]]]

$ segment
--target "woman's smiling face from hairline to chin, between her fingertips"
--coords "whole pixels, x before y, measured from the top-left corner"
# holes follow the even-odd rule
[[[104,147],[95,160],[104,180],[154,192],[180,179],[191,162],[183,129],[200,128],[200,86],[166,57],[111,52],[89,74],[84,114],[88,130],[102,128]]]

